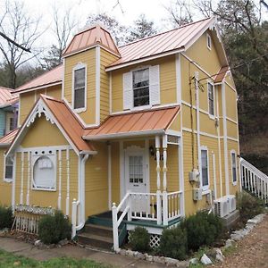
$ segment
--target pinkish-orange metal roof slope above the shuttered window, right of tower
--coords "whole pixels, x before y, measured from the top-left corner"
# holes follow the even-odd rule
[[[202,29],[206,29],[213,21],[214,18],[208,18],[202,21],[188,23],[178,29],[172,29],[121,46],[119,47],[121,58],[111,63],[108,67],[185,48],[198,36]]]

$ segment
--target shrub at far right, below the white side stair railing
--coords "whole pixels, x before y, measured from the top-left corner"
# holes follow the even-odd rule
[[[237,195],[237,203],[240,219],[244,223],[264,211],[264,202],[247,192],[241,192]]]

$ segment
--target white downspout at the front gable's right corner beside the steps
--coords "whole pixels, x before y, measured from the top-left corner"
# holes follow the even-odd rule
[[[76,226],[76,230],[81,230],[86,222],[85,217],[85,166],[88,160],[88,154],[79,155],[79,200],[77,204],[79,205],[79,219],[78,226]]]

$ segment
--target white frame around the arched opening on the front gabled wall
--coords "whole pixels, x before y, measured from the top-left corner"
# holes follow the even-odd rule
[[[46,156],[50,159],[50,161],[53,163],[54,165],[54,188],[41,188],[41,187],[34,187],[34,167],[35,167],[35,163],[37,163],[38,159]],[[53,155],[33,155],[31,156],[31,189],[32,190],[36,190],[36,191],[49,191],[49,192],[55,192],[57,189],[57,157],[56,157],[56,153],[53,152]]]

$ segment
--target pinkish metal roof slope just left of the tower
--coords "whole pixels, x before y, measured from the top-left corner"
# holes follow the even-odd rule
[[[50,71],[46,71],[42,75],[38,76],[34,80],[30,80],[28,83],[16,88],[15,92],[21,92],[24,90],[40,88],[53,85],[54,83],[61,83],[63,80],[63,65],[59,65]]]

